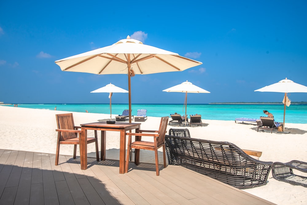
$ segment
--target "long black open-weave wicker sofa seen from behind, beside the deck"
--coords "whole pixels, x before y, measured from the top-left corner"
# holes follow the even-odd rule
[[[235,144],[165,135],[169,165],[180,165],[239,189],[265,185],[273,162],[248,156]]]

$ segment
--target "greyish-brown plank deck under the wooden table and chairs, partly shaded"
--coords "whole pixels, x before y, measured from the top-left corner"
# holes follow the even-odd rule
[[[0,204],[274,204],[204,175],[169,165],[156,176],[154,164],[0,149]]]

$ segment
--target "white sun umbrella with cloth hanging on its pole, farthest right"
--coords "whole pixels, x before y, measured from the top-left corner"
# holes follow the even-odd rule
[[[263,88],[260,88],[255,91],[260,92],[277,92],[277,93],[285,93],[284,96],[284,126],[283,129],[285,129],[285,115],[286,115],[286,104],[287,104],[287,93],[307,93],[307,87],[305,85],[301,85],[298,83],[295,83],[289,79],[284,79],[279,81],[278,83],[274,83],[272,85],[267,85]],[[290,103],[289,103],[290,105]]]

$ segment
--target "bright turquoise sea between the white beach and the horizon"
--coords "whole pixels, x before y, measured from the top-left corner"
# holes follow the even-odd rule
[[[14,105],[3,105],[13,106]],[[85,112],[110,113],[109,104],[18,104],[21,108],[46,109]],[[128,109],[128,104],[112,104],[112,117],[122,114]],[[183,104],[132,104],[132,115],[137,114],[137,109],[147,109],[147,116],[161,117],[169,116],[177,112],[185,114]],[[284,115],[283,104],[188,104],[187,115],[200,114],[202,119],[208,120],[235,120],[239,117],[257,118],[266,116],[263,110],[268,110],[274,115],[275,121],[282,122]],[[307,104],[291,104],[286,107],[285,123],[307,124]]]

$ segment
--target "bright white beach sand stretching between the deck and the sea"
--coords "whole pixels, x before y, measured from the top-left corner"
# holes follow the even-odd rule
[[[55,114],[64,111],[40,110],[0,106],[0,148],[31,152],[56,152]],[[75,125],[107,119],[109,114],[73,112]],[[238,117],[238,116],[234,116]],[[260,160],[288,162],[307,161],[307,124],[286,124],[289,134],[268,130],[257,132],[255,124],[241,124],[234,121],[205,120],[203,127],[188,127],[193,138],[215,141],[228,141],[242,149],[262,151]],[[141,129],[157,130],[159,117],[148,117]],[[178,126],[168,126],[179,128]],[[88,131],[93,136],[93,131]],[[99,137],[100,141],[100,137]],[[107,131],[107,159],[119,159],[119,132]],[[88,156],[95,157],[94,143],[88,145]],[[100,146],[99,146],[100,149]],[[72,155],[72,145],[62,145],[60,154]],[[159,159],[162,160],[161,152]],[[79,152],[77,152],[79,155]],[[141,162],[154,163],[153,152],[141,151]],[[160,160],[160,163],[161,163]],[[163,171],[163,170],[162,170]],[[248,193],[276,204],[307,204],[307,188],[277,181],[270,173],[268,183],[261,187],[244,189]]]

